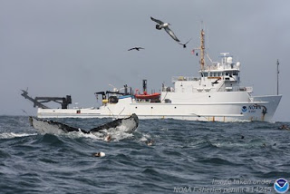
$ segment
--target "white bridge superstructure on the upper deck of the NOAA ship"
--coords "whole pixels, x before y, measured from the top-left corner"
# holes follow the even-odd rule
[[[174,88],[163,92],[245,92],[252,87],[240,87],[240,63],[234,63],[229,53],[221,53],[221,61],[204,65],[198,71],[199,77],[174,76]]]

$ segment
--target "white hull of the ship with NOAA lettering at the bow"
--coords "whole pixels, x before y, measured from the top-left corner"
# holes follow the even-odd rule
[[[186,102],[136,102],[131,97],[108,103],[99,109],[41,109],[38,118],[124,118],[136,113],[140,119],[177,119],[188,121],[271,121],[281,95],[250,97],[247,92],[207,92],[212,100]],[[218,94],[218,95],[217,95]],[[202,97],[203,96],[203,97]],[[197,97],[197,96],[196,96]],[[238,101],[240,100],[240,101]]]

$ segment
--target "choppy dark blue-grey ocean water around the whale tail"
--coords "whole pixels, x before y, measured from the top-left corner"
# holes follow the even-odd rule
[[[58,119],[89,130],[110,119]],[[290,178],[288,122],[142,120],[114,141],[0,116],[0,193],[276,193]],[[153,140],[151,146],[146,141]],[[106,156],[93,157],[103,151]]]

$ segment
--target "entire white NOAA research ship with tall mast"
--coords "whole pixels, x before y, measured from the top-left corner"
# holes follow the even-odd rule
[[[136,113],[139,119],[271,121],[282,95],[254,96],[252,87],[240,86],[240,63],[229,53],[221,53],[220,63],[205,63],[204,35],[201,30],[199,77],[173,77],[174,86],[162,84],[160,93],[147,93],[146,80],[141,94],[128,92],[127,85],[124,92],[96,92],[102,96],[99,108],[67,109],[62,104],[62,109],[51,109],[34,101],[37,117],[124,118]]]

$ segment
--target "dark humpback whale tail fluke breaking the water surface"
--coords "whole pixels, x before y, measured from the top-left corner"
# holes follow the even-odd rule
[[[53,133],[53,134],[62,134],[66,132],[72,131],[81,131],[83,133],[94,133],[94,132],[101,132],[104,135],[108,136],[105,131],[110,129],[119,130],[123,127],[123,131],[125,132],[133,132],[137,129],[139,125],[138,116],[133,113],[130,117],[124,119],[117,119],[108,123],[105,123],[101,126],[92,128],[90,131],[85,131],[80,128],[74,128],[69,125],[63,124],[62,122],[58,121],[51,121],[51,120],[41,120],[34,117],[29,117],[29,121],[31,126],[38,131],[42,131],[44,133]]]

